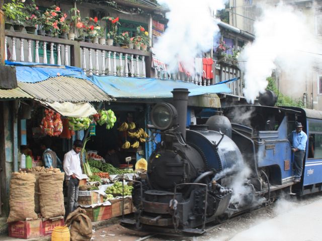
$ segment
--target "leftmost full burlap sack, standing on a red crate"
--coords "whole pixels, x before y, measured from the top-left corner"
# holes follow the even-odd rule
[[[37,219],[35,213],[35,182],[33,174],[15,172],[10,181],[10,213],[8,222]]]

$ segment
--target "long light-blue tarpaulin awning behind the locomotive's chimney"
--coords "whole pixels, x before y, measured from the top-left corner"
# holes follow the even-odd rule
[[[189,96],[231,93],[226,84],[200,86],[181,80],[160,80],[154,78],[131,78],[118,76],[93,76],[92,82],[116,98],[169,98],[174,88],[187,88]]]

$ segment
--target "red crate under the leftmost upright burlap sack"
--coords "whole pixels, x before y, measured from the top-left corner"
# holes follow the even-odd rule
[[[17,238],[34,238],[41,236],[41,219],[9,223],[9,236]]]

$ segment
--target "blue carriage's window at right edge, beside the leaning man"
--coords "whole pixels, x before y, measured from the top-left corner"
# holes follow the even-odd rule
[[[322,122],[308,121],[308,158],[322,158]]]

